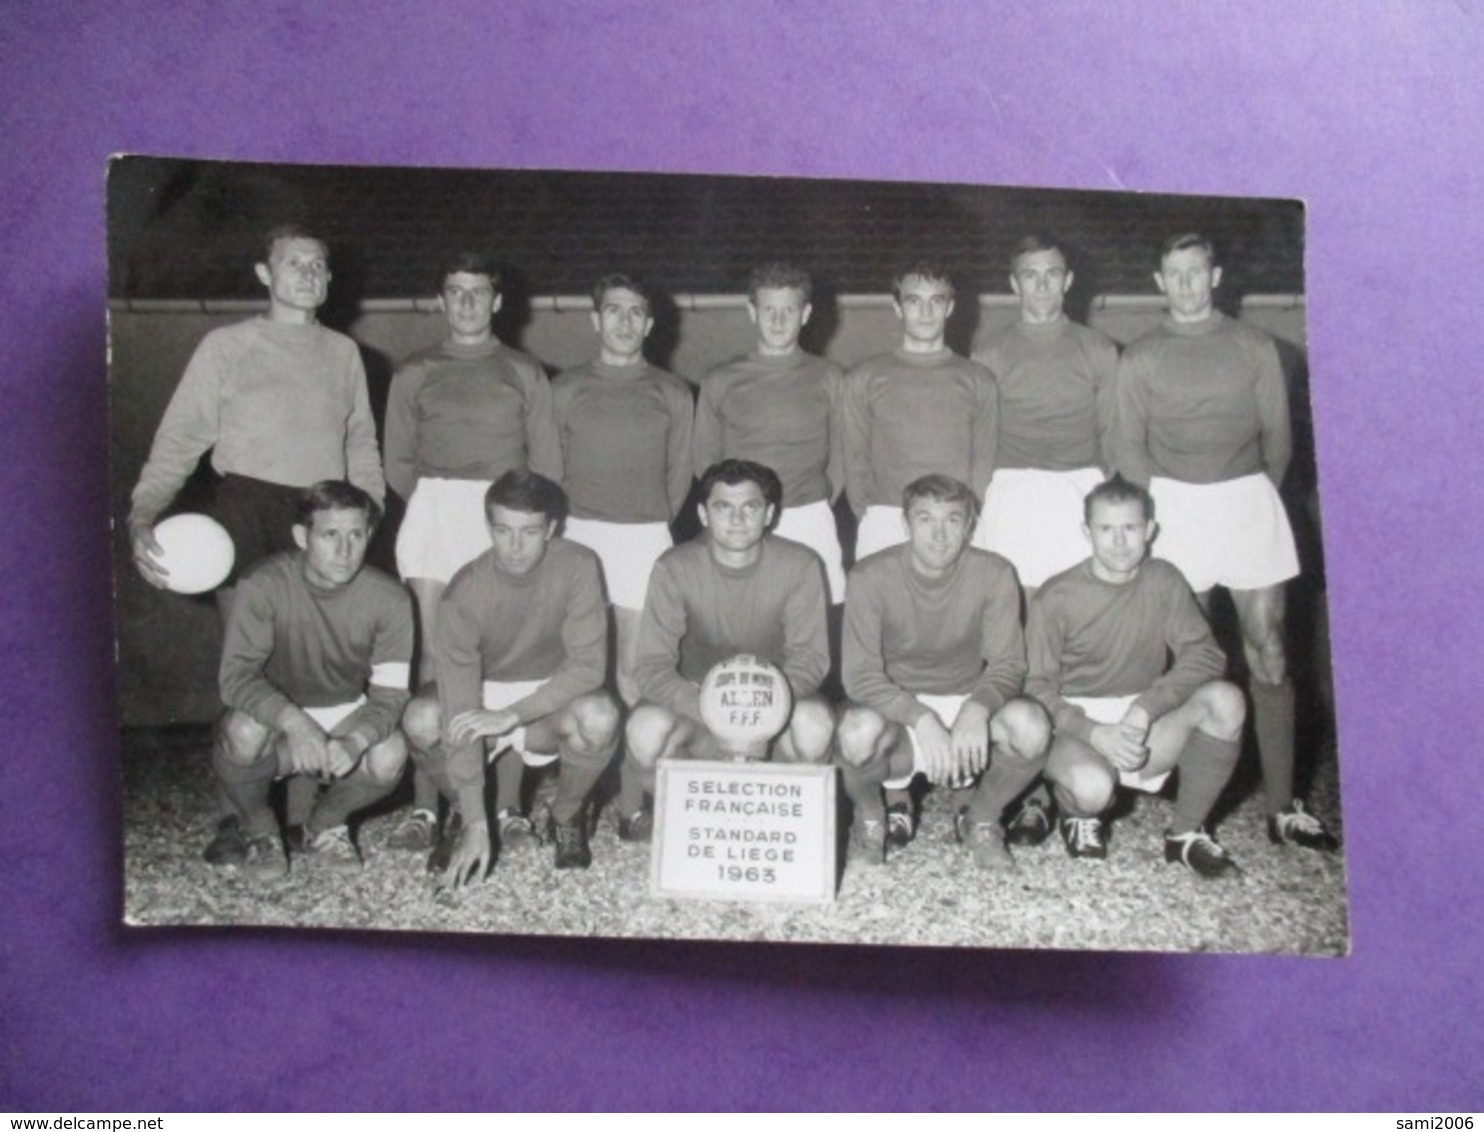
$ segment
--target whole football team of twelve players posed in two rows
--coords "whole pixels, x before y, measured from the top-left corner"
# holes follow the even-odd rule
[[[269,317],[203,340],[135,490],[131,537],[141,571],[159,583],[150,525],[200,454],[212,448],[212,463],[223,473],[217,513],[237,543],[239,562],[280,546],[285,533],[294,531],[303,550],[280,559],[278,570],[307,576],[306,593],[313,598],[329,577],[315,565],[322,525],[353,527],[353,516],[361,515],[362,527],[374,527],[375,516],[349,504],[306,504],[309,510],[295,513],[295,487],[318,476],[350,479],[377,494],[375,435],[353,344],[315,322],[328,286],[324,245],[301,233],[279,233],[257,270],[269,286]],[[644,361],[653,322],[649,297],[635,280],[611,276],[600,283],[592,316],[598,359],[548,384],[537,363],[491,332],[500,303],[499,273],[478,258],[450,264],[442,274],[450,338],[398,372],[387,408],[386,475],[393,490],[410,497],[398,565],[421,614],[420,677],[438,678],[436,696],[414,700],[407,712],[414,755],[424,757],[417,758],[413,816],[395,840],[435,846],[436,865],[450,859],[457,865],[448,871],[453,883],[466,872],[481,872],[491,850],[482,822],[479,751],[484,742],[508,743],[561,752],[552,822],[558,863],[586,863],[583,800],[613,755],[620,718],[617,705],[597,693],[604,675],[601,656],[592,682],[594,642],[605,647],[603,586],[617,632],[616,684],[631,709],[619,798],[622,835],[647,834],[641,798],[653,761],[705,749],[693,711],[702,657],[754,651],[779,663],[794,684],[797,706],[778,754],[827,758],[835,745],[835,720],[813,693],[828,668],[824,605],[838,602],[846,589],[830,510],[844,487],[861,522],[844,635],[844,679],[853,706],[840,720],[837,745],[856,800],[853,844],[859,856],[879,859],[883,843],[911,838],[904,795],[889,794],[889,806],[880,795],[881,780],[899,789],[905,785],[901,777],[910,779],[911,761],[895,766],[895,774],[884,770],[893,760],[901,764],[908,758],[910,749],[917,751],[919,769],[936,782],[978,777],[960,834],[975,846],[981,863],[1008,862],[1000,815],[1043,766],[1057,788],[1068,849],[1097,856],[1103,852],[1097,813],[1107,801],[1100,804],[1100,791],[1106,786],[1112,797],[1109,774],[1143,769],[1153,777],[1159,771],[1152,767],[1168,771],[1178,760],[1181,788],[1172,835],[1184,840],[1172,852],[1204,871],[1224,871],[1229,862],[1220,847],[1199,832],[1209,804],[1187,806],[1186,800],[1187,791],[1195,791],[1192,797],[1214,801],[1212,783],[1218,792],[1226,782],[1245,702],[1227,685],[1212,684],[1223,668],[1220,651],[1178,574],[1160,562],[1143,564],[1153,504],[1123,479],[1103,488],[1103,497],[1088,498],[1117,467],[1123,478],[1150,484],[1159,506],[1160,555],[1175,561],[1202,592],[1212,585],[1232,589],[1254,677],[1272,835],[1333,846],[1328,831],[1291,798],[1293,691],[1284,672],[1282,582],[1297,573],[1297,559],[1275,491],[1290,451],[1276,350],[1260,331],[1214,309],[1220,269],[1201,237],[1172,240],[1162,252],[1156,280],[1169,316],[1119,362],[1110,340],[1066,319],[1061,307],[1071,273],[1063,252],[1045,240],[1027,240],[1017,249],[1011,274],[1021,319],[979,344],[979,365],[944,344],[951,282],[936,269],[916,266],[893,289],[901,347],[844,374],[798,349],[810,315],[807,276],[769,267],[755,273],[749,288],[757,350],[706,377],[692,417],[689,386]],[[332,420],[335,405],[338,420]],[[702,537],[666,550],[669,522],[689,494],[692,469],[717,458],[730,463],[702,479]],[[510,467],[545,475],[503,479],[509,498],[502,501],[496,493],[487,507],[488,484]],[[1129,608],[1147,623],[1135,619],[1134,628],[1106,639],[1095,635],[1097,656],[1086,678],[1058,685],[1058,694],[1036,691],[1036,700],[1055,714],[1055,746],[1045,712],[1036,700],[1020,699],[1025,653],[1015,574],[1003,559],[966,546],[978,518],[975,487],[987,488],[975,542],[1014,562],[1028,593],[1086,556],[1083,536],[1092,537],[1094,556],[1080,570],[1091,571],[1094,582],[1177,582],[1175,590],[1156,588],[1158,601],[1132,602]],[[565,516],[568,501],[571,513]],[[562,518],[565,539],[552,542]],[[775,521],[778,534],[807,544],[819,559],[791,542],[763,537]],[[920,537],[919,525],[925,528]],[[1117,546],[1109,534],[1107,553],[1100,553],[1097,533],[1103,527],[1117,528]],[[331,534],[343,544],[334,565],[344,571],[355,558],[355,537],[335,530]],[[356,537],[364,536],[365,530]],[[491,539],[493,549],[487,549]],[[601,582],[589,580],[586,598],[567,593],[556,605],[559,623],[543,632],[534,616],[540,602],[531,602],[531,579],[546,577],[548,562],[570,564],[567,576],[582,573],[579,562],[592,565],[591,556],[574,553],[573,543],[597,552]],[[549,553],[552,546],[561,549]],[[889,549],[893,546],[899,549]],[[876,550],[883,553],[873,558]],[[470,559],[475,562],[460,576],[459,588],[450,588]],[[791,573],[785,571],[779,585],[778,570],[769,567],[763,571],[769,580],[754,592],[757,583],[749,579],[763,561],[791,562]],[[813,579],[819,583],[819,617],[813,617],[800,602],[807,605],[815,590],[810,576],[819,573],[821,561],[825,577]],[[887,562],[899,577],[887,574]],[[362,573],[370,576],[355,559],[350,579]],[[942,580],[950,576],[972,576],[975,582],[963,592],[945,589]],[[472,580],[479,577],[482,588]],[[890,580],[873,586],[876,577]],[[917,585],[925,579],[930,583],[926,589]],[[254,574],[245,588],[257,580]],[[503,592],[508,585],[513,593]],[[868,608],[868,596],[856,599],[862,588],[867,595],[880,595],[883,610],[874,620],[856,616]],[[1149,586],[1129,592],[1144,589]],[[470,598],[470,590],[478,596]],[[1006,592],[1012,601],[1006,602]],[[322,681],[306,684],[297,699],[292,693],[285,697],[289,688],[282,681],[304,674],[288,674],[282,665],[275,671],[275,657],[283,656],[275,635],[295,632],[295,617],[280,616],[278,605],[295,602],[282,593],[264,598],[255,585],[251,593],[254,626],[239,626],[248,613],[230,596],[223,599],[230,608],[223,697],[233,711],[221,731],[217,763],[224,785],[233,774],[242,779],[237,771],[248,767],[257,774],[252,798],[263,797],[261,804],[249,804],[242,791],[234,795],[226,789],[230,812],[209,856],[252,856],[276,869],[282,855],[263,844],[273,823],[266,783],[278,773],[306,767],[337,773],[349,764],[355,770],[337,779],[319,809],[307,786],[291,785],[289,826],[307,831],[291,834],[291,840],[325,841],[325,852],[352,859],[346,816],[367,804],[367,782],[384,794],[387,767],[395,763],[401,770],[395,752],[383,754],[401,739],[383,730],[389,720],[395,724],[395,712],[378,697],[399,678],[405,699],[405,660],[367,656],[380,668],[361,674],[362,685],[371,675],[371,688],[359,708],[347,702],[344,685],[332,693]],[[1070,628],[1063,625],[1060,632],[1071,636],[1058,638],[1063,644],[1077,639],[1077,619],[1097,605],[1083,598],[1070,602]],[[787,608],[778,604],[784,599]],[[887,616],[893,601],[904,608],[892,607]],[[1126,614],[1123,601],[1119,608]],[[1043,607],[1051,604],[1031,602],[1033,626]],[[1183,616],[1186,607],[1195,610],[1193,619]],[[577,610],[585,611],[582,623],[571,620]],[[764,610],[778,613],[779,620]],[[1106,628],[1109,616],[1101,611],[1095,622]],[[1166,632],[1171,617],[1178,622],[1178,641],[1160,638],[1158,657],[1141,653],[1143,645],[1132,648],[1134,641],[1147,644],[1150,632]],[[761,625],[749,623],[758,619]],[[928,625],[936,628],[929,632]],[[1196,625],[1204,632],[1201,641]],[[246,645],[234,626],[251,638]],[[966,626],[975,639],[966,639]],[[950,631],[951,642],[939,639]],[[530,647],[530,656],[505,656],[512,632]],[[1183,666],[1189,660],[1183,650],[1192,642],[1201,645],[1205,662]],[[1086,645],[1068,645],[1068,656],[1086,663]],[[1175,666],[1160,675],[1166,645]],[[576,653],[583,650],[579,659]],[[1033,668],[1034,650],[1033,639]],[[1132,654],[1140,660],[1129,668]],[[240,678],[229,679],[233,666]],[[1192,685],[1195,672],[1204,678]],[[1129,679],[1144,684],[1125,687]],[[577,690],[585,681],[591,687]],[[243,684],[257,685],[257,699],[243,697]],[[341,699],[312,702],[332,694]],[[935,694],[969,700],[932,703]],[[1116,708],[1073,703],[1088,696],[1138,699]],[[343,718],[316,721],[304,711],[321,708],[340,708]],[[1095,721],[1097,712],[1110,711],[1116,715]],[[243,717],[254,725],[243,724]],[[515,734],[521,730],[524,734]],[[1104,771],[1101,777],[1095,767]],[[496,774],[499,831],[509,847],[536,831],[518,803],[505,809],[518,797],[519,760],[499,758]],[[365,786],[361,794],[356,782]],[[438,789],[456,803],[453,813],[462,815],[462,820],[445,823],[442,837],[433,817]],[[349,810],[347,798],[355,803]],[[1045,837],[1051,815],[1043,794],[1033,792],[1020,804],[1009,829],[1012,840]]]

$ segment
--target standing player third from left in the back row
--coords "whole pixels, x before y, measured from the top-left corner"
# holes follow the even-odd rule
[[[598,552],[617,636],[616,682],[634,705],[634,645],[644,590],[669,547],[669,524],[690,491],[690,386],[644,361],[654,328],[650,292],[625,274],[592,288],[598,358],[552,383],[567,537]]]

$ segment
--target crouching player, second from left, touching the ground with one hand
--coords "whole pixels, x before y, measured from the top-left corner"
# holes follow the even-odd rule
[[[556,484],[506,472],[485,494],[493,546],[444,590],[438,685],[408,705],[405,727],[413,758],[453,807],[429,859],[447,887],[490,866],[487,743],[503,847],[537,841],[521,812],[522,754],[549,755],[561,764],[548,825],[556,868],[592,863],[583,809],[613,758],[619,709],[601,691],[608,622],[598,556],[556,537],[565,515]]]

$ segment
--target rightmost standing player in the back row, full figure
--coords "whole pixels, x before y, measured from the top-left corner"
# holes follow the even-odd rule
[[[1298,574],[1298,555],[1278,496],[1293,454],[1278,349],[1263,331],[1215,309],[1221,267],[1204,236],[1166,240],[1155,282],[1169,313],[1119,365],[1116,463],[1155,498],[1156,553],[1180,567],[1202,605],[1214,586],[1232,595],[1251,674],[1269,837],[1333,850],[1334,835],[1293,797],[1284,583]]]

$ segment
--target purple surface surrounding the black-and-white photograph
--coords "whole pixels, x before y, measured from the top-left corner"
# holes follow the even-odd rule
[[[0,1108],[1484,1105],[1475,6],[386,7],[4,6]],[[111,151],[1306,199],[1355,954],[123,930]]]

